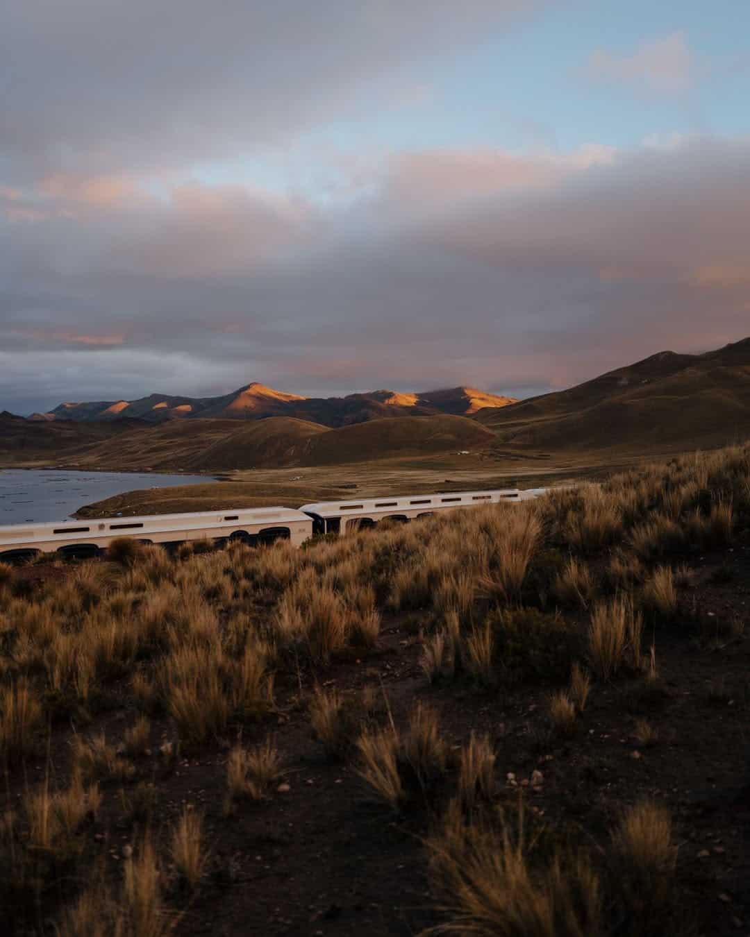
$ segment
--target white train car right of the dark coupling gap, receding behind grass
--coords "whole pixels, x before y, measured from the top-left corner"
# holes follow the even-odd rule
[[[425,514],[455,511],[458,508],[476,508],[486,504],[498,504],[501,501],[527,500],[537,497],[536,492],[543,491],[544,489],[530,489],[527,493],[517,488],[501,488],[494,491],[456,491],[437,495],[320,501],[317,504],[303,504],[300,511],[312,517],[314,533],[344,533],[347,530],[374,527],[385,518],[406,522]]]

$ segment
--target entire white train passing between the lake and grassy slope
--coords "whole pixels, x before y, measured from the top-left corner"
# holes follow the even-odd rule
[[[0,560],[33,558],[57,551],[63,556],[96,556],[118,537],[143,543],[171,545],[209,538],[218,542],[242,540],[250,544],[289,540],[299,546],[313,534],[344,533],[373,527],[384,518],[408,522],[425,514],[473,508],[500,501],[537,498],[545,488],[519,491],[444,492],[322,501],[301,508],[236,508],[183,514],[151,514],[143,517],[100,517],[56,524],[10,524],[0,527]]]

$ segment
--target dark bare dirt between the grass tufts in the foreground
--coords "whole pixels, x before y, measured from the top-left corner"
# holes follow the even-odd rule
[[[522,796],[554,825],[575,829],[594,846],[607,842],[624,805],[653,796],[674,821],[686,922],[681,932],[750,935],[750,547],[691,565],[696,579],[688,602],[699,610],[703,628],[688,629],[678,620],[646,635],[655,645],[664,692],[644,694],[628,678],[594,684],[573,738],[548,731],[553,685],[507,692],[460,683],[429,686],[419,666],[418,613],[386,618],[375,652],[319,669],[317,680],[343,692],[377,688],[397,723],[415,700],[427,700],[456,746],[471,731],[488,732],[497,751],[498,803]],[[33,578],[44,571],[30,567],[20,574]],[[730,620],[744,622],[745,631],[727,632]],[[313,689],[301,671],[279,676],[274,715],[246,731],[243,742],[272,732],[286,759],[288,788],[264,802],[242,803],[232,816],[223,809],[231,740],[164,768],[158,749],[173,740],[173,729],[166,720],[152,722],[153,755],[140,760],[138,778],[126,787],[139,779],[156,783],[159,825],[186,803],[203,811],[211,854],[197,895],[169,896],[170,906],[180,909],[176,933],[409,937],[440,922],[423,844],[429,811],[394,814],[368,794],[353,761],[326,760],[309,726],[306,701]],[[638,718],[658,733],[649,747],[634,739]],[[124,704],[85,728],[104,728],[116,742],[131,721]],[[43,756],[31,766],[36,778],[21,772],[8,777],[11,803],[28,780],[41,780],[48,770],[53,777],[63,768],[69,730],[61,725],[55,732],[49,767]],[[530,793],[523,782],[534,769],[544,781]],[[102,784],[102,810],[87,831],[92,850],[106,845],[113,881],[121,875],[125,847],[139,836],[138,825],[124,819],[122,786]],[[62,902],[66,881],[57,887]],[[49,922],[41,924],[50,930]]]

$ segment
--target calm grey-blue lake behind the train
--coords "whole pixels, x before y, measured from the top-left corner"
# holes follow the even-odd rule
[[[0,525],[64,521],[84,504],[126,491],[210,481],[205,475],[160,472],[0,469]]]

